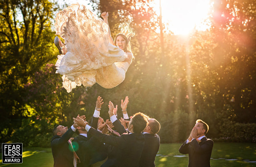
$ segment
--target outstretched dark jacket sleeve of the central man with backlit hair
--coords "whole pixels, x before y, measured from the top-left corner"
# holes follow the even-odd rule
[[[107,144],[110,144],[112,146],[119,147],[119,148],[125,147],[124,146],[124,143],[125,143],[124,135],[122,135],[120,137],[106,135],[106,134],[100,133],[99,131],[97,131],[94,128],[90,128],[88,134],[94,136],[100,142],[107,143]]]

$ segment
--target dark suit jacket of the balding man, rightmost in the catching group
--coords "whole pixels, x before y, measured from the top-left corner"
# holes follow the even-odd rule
[[[140,157],[140,167],[155,167],[156,154],[160,147],[160,138],[157,134],[144,133],[145,145]]]

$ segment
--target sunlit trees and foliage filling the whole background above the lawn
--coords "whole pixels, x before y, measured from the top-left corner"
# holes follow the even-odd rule
[[[77,114],[89,119],[100,95],[104,119],[110,100],[119,105],[118,117],[122,116],[120,101],[128,96],[128,114],[140,111],[159,120],[164,143],[186,140],[198,118],[210,126],[208,138],[256,142],[252,1],[213,0],[211,29],[187,37],[164,34],[164,55],[151,0],[91,2],[99,15],[109,12],[112,35],[119,33],[120,23],[132,22],[135,60],[117,87],[95,84],[68,94],[53,65],[58,54],[51,22],[56,4],[0,0],[1,141],[47,146],[40,139],[49,144],[55,123],[70,126]]]

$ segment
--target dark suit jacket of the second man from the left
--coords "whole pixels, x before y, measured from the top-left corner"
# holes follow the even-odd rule
[[[83,135],[78,135],[72,141],[73,145],[78,146],[76,154],[81,163],[77,163],[77,167],[89,167],[93,163],[103,161],[107,158],[107,149],[104,144],[100,143],[96,138],[88,139]]]

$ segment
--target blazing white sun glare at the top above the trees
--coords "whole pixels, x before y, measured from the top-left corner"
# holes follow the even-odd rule
[[[160,14],[159,1],[154,10]],[[194,28],[205,31],[210,27],[210,0],[161,0],[162,21],[166,30],[178,34],[189,34]]]

